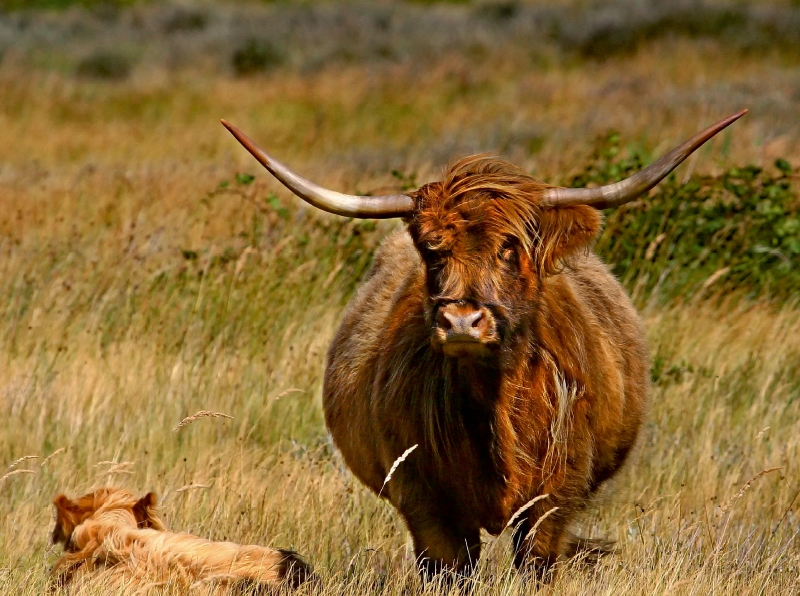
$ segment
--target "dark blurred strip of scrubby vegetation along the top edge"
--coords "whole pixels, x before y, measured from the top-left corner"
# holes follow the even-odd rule
[[[42,8],[68,10],[36,10]],[[95,53],[124,45],[142,66],[207,66],[211,59],[218,71],[241,75],[276,66],[424,62],[448,52],[480,60],[504,49],[528,55],[533,64],[552,59],[553,51],[564,59],[605,60],[664,37],[709,38],[741,52],[797,54],[800,6],[702,0],[580,7],[514,0],[0,0],[0,55],[13,47],[39,62],[71,61],[73,68],[82,59],[71,55],[73,42]]]

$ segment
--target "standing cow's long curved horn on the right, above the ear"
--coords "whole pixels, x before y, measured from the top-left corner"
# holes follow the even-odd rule
[[[700,145],[724,128],[736,122],[746,113],[747,110],[742,110],[738,114],[729,116],[724,120],[720,120],[713,126],[709,126],[704,131],[694,135],[683,145],[675,147],[675,149],[667,153],[657,162],[641,172],[634,174],[630,178],[599,188],[549,188],[545,191],[542,202],[553,207],[590,205],[597,209],[607,209],[609,207],[619,207],[620,205],[633,201],[661,182],[667,174],[677,168],[678,165],[689,157]]]

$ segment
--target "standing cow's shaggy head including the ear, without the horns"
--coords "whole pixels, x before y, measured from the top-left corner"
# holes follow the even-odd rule
[[[530,324],[542,279],[596,236],[599,212],[542,208],[542,188],[482,158],[415,193],[409,232],[425,266],[434,349],[454,358],[498,355]]]

